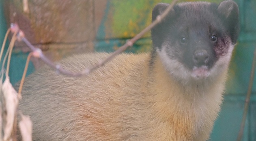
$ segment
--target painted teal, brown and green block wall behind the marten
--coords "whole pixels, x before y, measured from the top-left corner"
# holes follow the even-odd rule
[[[155,4],[171,1],[28,0],[29,11],[24,12],[22,0],[0,0],[0,43],[10,23],[17,23],[28,40],[54,61],[75,53],[113,52],[151,23],[151,11]],[[185,1],[197,0],[179,2]],[[219,3],[222,0],[207,1]],[[235,2],[240,10],[241,33],[230,64],[222,111],[211,134],[212,141],[234,141],[237,138],[256,47],[256,0]],[[126,52],[150,50],[148,32]],[[9,73],[12,84],[21,79],[29,51],[24,44],[16,41]],[[39,59],[33,58],[28,75],[42,64]],[[243,141],[256,141],[256,78]]]

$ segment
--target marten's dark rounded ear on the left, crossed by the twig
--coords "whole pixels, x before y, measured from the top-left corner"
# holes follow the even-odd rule
[[[152,11],[152,21],[155,21],[155,19],[157,18],[158,15],[161,15],[164,10],[166,10],[166,8],[169,6],[170,4],[165,4],[165,3],[159,3],[157,4],[153,11]],[[168,16],[174,15],[174,10],[172,9],[170,11],[170,14]]]

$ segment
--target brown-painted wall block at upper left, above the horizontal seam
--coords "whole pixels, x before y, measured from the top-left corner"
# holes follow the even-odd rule
[[[18,23],[32,43],[76,43],[95,37],[93,0],[5,0],[8,23]]]

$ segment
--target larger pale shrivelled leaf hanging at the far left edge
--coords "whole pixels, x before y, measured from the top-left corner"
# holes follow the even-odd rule
[[[14,118],[16,116],[16,110],[19,103],[18,93],[15,91],[10,83],[10,79],[6,76],[6,79],[2,85],[2,92],[5,99],[6,107],[6,125],[4,127],[4,141],[11,137],[13,131]]]

